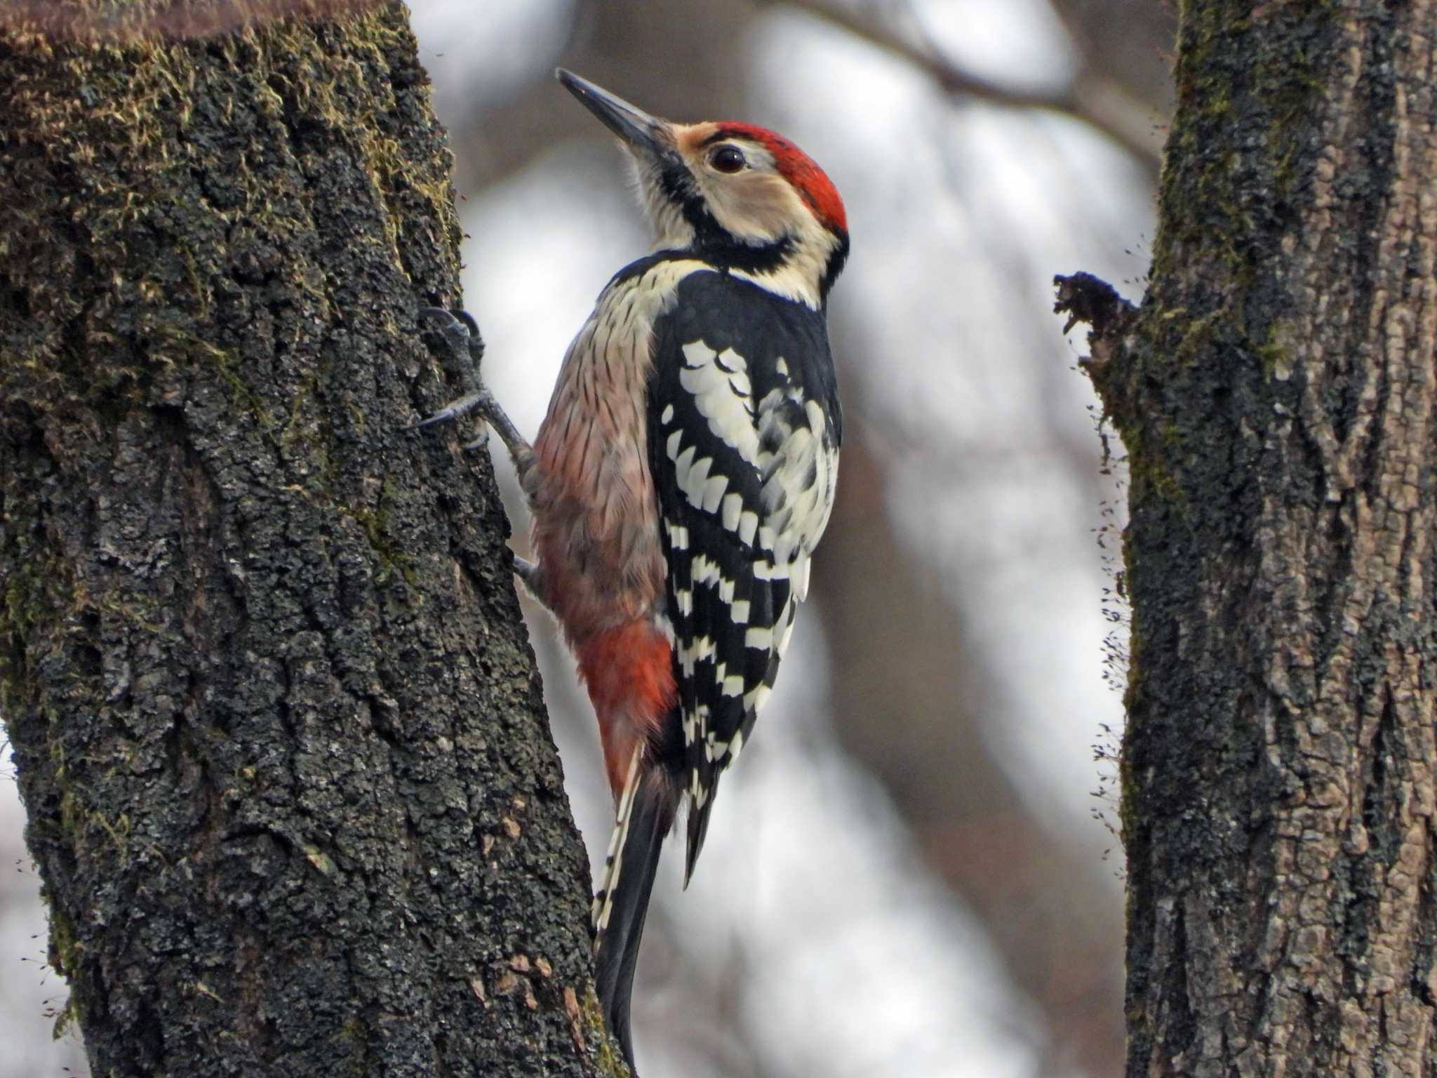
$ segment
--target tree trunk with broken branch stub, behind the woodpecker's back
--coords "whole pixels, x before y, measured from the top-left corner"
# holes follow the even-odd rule
[[[1148,295],[1068,283],[1131,464],[1131,1078],[1437,1074],[1434,27],[1188,0]]]

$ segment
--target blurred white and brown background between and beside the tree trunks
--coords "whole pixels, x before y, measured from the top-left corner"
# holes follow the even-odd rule
[[[651,1075],[1117,1075],[1121,861],[1095,796],[1121,699],[1078,342],[1052,276],[1141,292],[1170,109],[1151,0],[415,0],[451,132],[486,378],[539,424],[604,282],[647,249],[556,63],[674,119],[802,145],[848,207],[831,299],[839,506],[773,701],[687,893],[665,860],[635,992]],[[519,506],[510,497],[516,532]],[[1121,523],[1121,522],[1119,522]],[[570,660],[532,617],[591,855],[609,803]],[[55,1044],[45,914],[0,779],[0,1078]]]

